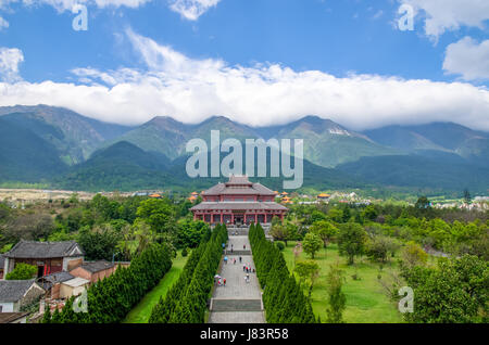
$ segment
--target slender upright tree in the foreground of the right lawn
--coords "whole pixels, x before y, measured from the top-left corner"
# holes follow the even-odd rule
[[[347,296],[342,292],[344,272],[338,265],[331,265],[326,276],[328,306],[326,307],[327,321],[330,323],[341,323],[343,310],[347,307]]]

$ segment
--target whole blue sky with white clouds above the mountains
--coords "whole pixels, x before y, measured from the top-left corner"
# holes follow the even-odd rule
[[[175,1],[184,10],[172,9]],[[437,1],[425,0],[432,5],[424,7],[421,0],[83,0],[80,3],[88,9],[88,30],[75,31],[72,21],[76,14],[70,9],[76,1],[41,0],[28,5],[22,0],[0,0],[0,48],[5,52],[0,72],[3,94],[8,95],[0,99],[0,105],[62,105],[118,123],[141,123],[154,115],[197,122],[217,114],[246,117],[251,125],[258,125],[266,124],[263,114],[274,123],[315,113],[358,129],[454,120],[487,130],[489,7],[487,1],[465,0],[465,7],[473,9],[459,15],[462,0],[446,0],[441,2],[443,7],[437,7]],[[203,9],[202,13],[189,17],[185,9],[195,2]],[[402,3],[415,10],[412,31],[397,27]],[[205,8],[206,4],[215,5]],[[178,64],[180,74],[171,65],[159,66],[159,62],[165,65],[172,60],[173,54],[185,60],[185,66]],[[213,67],[209,68],[205,62]],[[215,74],[205,77],[205,69]],[[136,81],[127,76],[127,71],[138,74]],[[316,85],[314,72],[321,73],[322,85]],[[235,79],[236,74],[240,74],[239,80]],[[116,81],[108,84],[106,78],[100,78],[102,75]],[[250,76],[260,82],[243,81]],[[160,82],[159,92],[149,92],[153,99],[147,106],[148,100],[138,92],[152,78]],[[170,89],[168,85],[177,81],[178,88]],[[18,91],[22,84],[23,90]],[[70,85],[73,93],[59,95],[48,84],[60,90]],[[213,84],[212,89],[202,84]],[[301,92],[306,92],[304,89],[312,84],[316,87],[310,92],[311,99],[302,97],[293,104],[271,105],[288,94],[297,94],[298,85]],[[410,91],[417,89],[414,84],[421,86],[417,97]],[[122,86],[131,87],[133,91],[114,95]],[[92,88],[92,92],[87,88]],[[326,88],[328,91],[323,94]],[[392,94],[386,94],[389,89]],[[265,95],[254,100],[253,90]],[[170,100],[186,91],[192,95],[180,102],[190,105]],[[86,104],[87,98],[97,92],[102,93],[95,101],[110,99],[113,112],[102,110],[103,101],[92,107]],[[355,92],[359,94],[351,95]],[[452,92],[463,97],[457,97],[447,111],[439,94],[450,100]],[[73,95],[78,93],[84,100],[74,102]],[[335,98],[343,101],[336,104]],[[344,100],[348,98],[352,99]],[[392,110],[393,105],[384,104],[383,98],[402,103],[401,108]],[[301,99],[310,106],[299,104]],[[322,99],[327,102],[322,103]],[[422,104],[430,99],[435,105]],[[247,100],[250,104],[244,104]],[[133,108],[124,111],[128,102],[138,110],[142,104],[137,116]],[[352,102],[354,106],[347,108],[346,104]],[[386,108],[386,113],[378,114],[378,108]]]

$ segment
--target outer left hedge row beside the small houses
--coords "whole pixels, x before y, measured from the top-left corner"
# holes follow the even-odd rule
[[[88,312],[75,312],[70,298],[63,310],[45,312],[45,323],[116,323],[153,289],[172,267],[171,250],[164,244],[151,244],[133,259],[128,268],[115,272],[87,290]]]

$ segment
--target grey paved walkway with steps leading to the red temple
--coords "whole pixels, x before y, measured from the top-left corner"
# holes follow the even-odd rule
[[[233,245],[233,253],[230,247]],[[244,245],[244,248],[243,248]],[[229,235],[226,256],[218,274],[226,278],[226,286],[216,286],[211,302],[210,323],[265,323],[263,303],[256,273],[246,282],[243,265],[254,267],[248,235]],[[248,255],[242,255],[243,253]],[[241,256],[241,264],[239,263]],[[236,264],[234,259],[236,258]]]

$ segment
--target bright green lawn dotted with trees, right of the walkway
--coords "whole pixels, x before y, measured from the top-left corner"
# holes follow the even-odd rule
[[[285,259],[290,270],[293,269],[293,246],[296,243],[289,242],[284,250]],[[302,253],[299,259],[310,257]],[[326,273],[329,265],[339,263],[346,271],[346,282],[343,292],[347,295],[347,308],[343,312],[343,320],[350,323],[397,323],[402,322],[401,314],[397,306],[389,301],[378,282],[379,265],[368,261],[366,258],[355,258],[353,266],[348,266],[344,257],[339,256],[336,244],[331,244],[327,251],[322,250],[316,254],[316,263],[321,267],[319,278],[312,292],[312,306],[314,314],[321,317],[322,322],[326,321],[327,292],[325,289]],[[353,280],[352,274],[360,276],[360,280]],[[384,271],[396,268],[394,264],[386,264]]]

